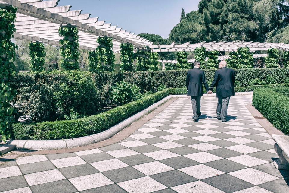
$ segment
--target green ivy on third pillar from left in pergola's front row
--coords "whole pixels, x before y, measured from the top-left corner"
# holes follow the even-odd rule
[[[107,36],[98,37],[97,43],[99,44],[99,46],[96,48],[96,69],[100,72],[113,72],[115,55],[112,51],[112,38]]]

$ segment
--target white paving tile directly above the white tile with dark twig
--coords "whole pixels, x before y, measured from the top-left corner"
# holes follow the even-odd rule
[[[211,168],[204,164],[190,166],[190,167],[182,168],[179,170],[197,179],[205,179],[205,178],[210,178],[213,176],[224,174],[224,172],[221,172],[217,169]]]

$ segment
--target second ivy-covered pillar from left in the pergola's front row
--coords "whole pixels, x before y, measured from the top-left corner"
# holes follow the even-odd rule
[[[62,24],[58,30],[59,35],[63,39],[59,40],[61,48],[59,53],[62,57],[60,66],[64,70],[78,70],[79,69],[79,43],[78,30],[76,25]]]

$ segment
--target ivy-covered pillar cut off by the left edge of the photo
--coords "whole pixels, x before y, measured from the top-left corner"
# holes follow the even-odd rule
[[[11,42],[11,38],[16,31],[16,11],[17,8],[0,1],[0,135],[3,141],[10,138],[15,112],[10,101],[16,95],[16,90],[11,89],[9,81],[15,74],[13,61],[17,46]]]

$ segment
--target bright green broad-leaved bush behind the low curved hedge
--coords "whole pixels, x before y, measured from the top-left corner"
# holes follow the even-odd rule
[[[135,84],[129,84],[125,81],[116,83],[111,91],[111,100],[116,105],[138,100],[140,96],[140,89]]]

